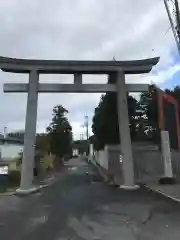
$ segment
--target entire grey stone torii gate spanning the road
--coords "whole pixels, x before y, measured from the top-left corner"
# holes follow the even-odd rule
[[[127,92],[148,91],[147,84],[125,84],[125,74],[148,73],[159,58],[137,61],[62,61],[28,60],[0,57],[0,69],[4,72],[29,74],[29,83],[6,83],[4,92],[28,93],[24,154],[21,171],[21,184],[18,193],[36,191],[33,186],[33,167],[36,140],[38,93],[103,93],[117,92],[119,131],[123,157],[123,177],[125,189],[134,189],[134,166],[129,130]],[[39,83],[40,74],[73,74],[73,84]],[[107,74],[107,84],[83,84],[83,74]],[[18,109],[17,109],[18,110]]]

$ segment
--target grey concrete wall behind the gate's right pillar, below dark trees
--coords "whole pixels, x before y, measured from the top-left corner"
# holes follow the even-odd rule
[[[171,152],[173,174],[180,179],[180,152]],[[164,175],[161,152],[156,146],[133,145],[135,180],[141,183],[157,182]],[[114,175],[122,177],[122,161],[119,145],[108,145],[96,153],[96,161]]]

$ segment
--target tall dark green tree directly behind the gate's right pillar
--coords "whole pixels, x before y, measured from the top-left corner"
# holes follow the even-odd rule
[[[132,137],[136,128],[136,106],[136,99],[128,96],[129,122]],[[95,108],[92,131],[96,149],[102,149],[106,144],[118,144],[120,142],[116,93],[107,93],[101,96],[99,105]]]

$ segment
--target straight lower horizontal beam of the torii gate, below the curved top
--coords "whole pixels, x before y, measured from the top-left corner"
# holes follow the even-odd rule
[[[149,90],[148,84],[126,84],[127,92],[146,92]],[[3,87],[6,93],[26,93],[28,92],[27,83],[5,83]],[[56,84],[40,83],[39,93],[104,93],[117,92],[115,84]]]

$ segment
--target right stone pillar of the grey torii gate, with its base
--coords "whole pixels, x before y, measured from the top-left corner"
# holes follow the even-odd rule
[[[137,189],[139,186],[135,184],[134,179],[134,162],[132,156],[132,144],[129,128],[129,113],[127,104],[127,91],[125,84],[125,74],[119,71],[116,74],[117,84],[117,106],[118,106],[118,121],[119,121],[119,135],[121,143],[121,154],[123,160],[123,181],[121,188]]]

